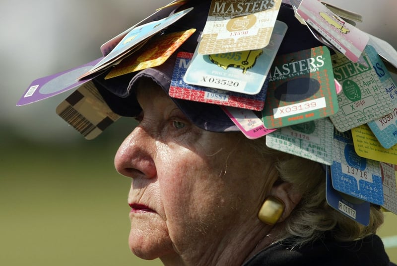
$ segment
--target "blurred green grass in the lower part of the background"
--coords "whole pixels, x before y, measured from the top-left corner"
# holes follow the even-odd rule
[[[130,179],[116,173],[113,158],[129,128],[67,145],[12,139],[3,130],[0,265],[162,265],[128,248]],[[379,235],[397,236],[396,224],[387,213]],[[387,252],[397,262],[397,247]]]

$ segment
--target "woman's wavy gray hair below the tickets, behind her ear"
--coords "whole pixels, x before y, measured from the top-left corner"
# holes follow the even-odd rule
[[[375,234],[383,223],[383,213],[378,206],[371,204],[370,222],[363,226],[339,213],[328,205],[326,200],[326,176],[317,162],[289,155],[267,148],[265,138],[250,140],[254,150],[264,158],[271,159],[279,178],[292,184],[293,189],[302,195],[300,203],[285,220],[279,240],[293,239],[293,246],[324,238],[331,233],[337,241],[352,241]]]

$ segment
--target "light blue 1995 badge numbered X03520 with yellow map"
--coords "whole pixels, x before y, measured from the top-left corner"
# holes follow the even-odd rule
[[[200,55],[195,51],[184,81],[190,85],[257,94],[287,31],[284,22],[276,21],[269,45],[263,49]]]

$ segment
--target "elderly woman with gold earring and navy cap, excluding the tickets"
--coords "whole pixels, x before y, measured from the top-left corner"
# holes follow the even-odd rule
[[[210,1],[185,5],[195,9],[166,32],[197,28],[179,49],[193,53]],[[278,54],[321,45],[289,4],[277,19],[288,25]],[[138,121],[115,157],[132,179],[136,256],[173,266],[390,264],[375,235],[378,205],[368,226],[357,223],[327,203],[323,165],[246,138],[216,104],[170,97],[175,54],[160,67],[94,80],[116,113]]]

